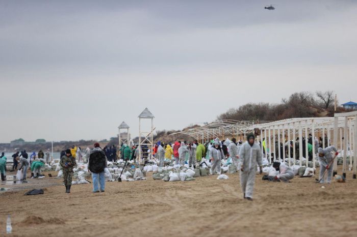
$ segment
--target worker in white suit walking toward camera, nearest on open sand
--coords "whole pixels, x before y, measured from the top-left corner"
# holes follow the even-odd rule
[[[262,150],[255,143],[254,134],[247,135],[247,141],[239,149],[240,183],[244,198],[253,200],[254,181],[256,179],[257,165],[262,173]]]

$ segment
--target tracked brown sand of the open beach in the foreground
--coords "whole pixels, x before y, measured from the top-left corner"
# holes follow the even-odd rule
[[[340,166],[339,166],[340,168]],[[48,173],[48,172],[45,172]],[[49,172],[57,174],[57,172]],[[341,173],[341,172],[340,172]],[[190,182],[148,180],[109,182],[106,192],[73,185],[47,175],[0,193],[0,235],[11,214],[12,236],[354,236],[357,231],[357,181],[315,184],[295,177],[292,183],[261,180],[254,200],[242,198],[239,175]],[[1,187],[13,185],[2,185]],[[34,187],[44,195],[24,196]],[[11,188],[10,187],[10,188]]]

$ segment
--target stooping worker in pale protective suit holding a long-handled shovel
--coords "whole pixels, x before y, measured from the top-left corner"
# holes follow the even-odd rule
[[[320,162],[320,183],[325,183],[325,180],[323,179],[322,175],[327,169],[327,183],[331,183],[331,177],[333,173],[333,164],[330,164],[331,161],[334,159],[332,152],[335,153],[335,156],[337,156],[339,153],[334,145],[328,146],[325,149],[322,149],[319,147],[317,150],[317,153],[319,154],[319,162]]]

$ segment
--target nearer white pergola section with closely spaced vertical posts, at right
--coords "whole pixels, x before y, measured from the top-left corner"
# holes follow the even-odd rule
[[[247,128],[247,130],[252,131],[253,129],[259,128],[261,130],[261,142],[263,143],[263,138],[266,141],[267,150],[269,150],[269,154],[273,151],[273,160],[275,161],[276,158],[282,158],[285,160],[286,158],[286,151],[285,145],[283,145],[283,154],[281,154],[281,150],[275,151],[275,141],[280,144],[281,142],[285,143],[287,141],[291,141],[293,138],[293,156],[292,156],[292,163],[295,164],[296,160],[296,138],[299,137],[299,147],[303,147],[302,144],[302,137],[308,138],[309,134],[312,135],[314,139],[315,136],[319,137],[319,134],[323,137],[322,147],[325,148],[325,138],[327,138],[327,145],[330,145],[331,140],[331,132],[334,137],[333,144],[337,146],[340,150],[347,151],[346,146],[342,145],[342,132],[347,139],[345,139],[345,143],[349,138],[349,143],[352,144],[352,133],[354,133],[355,129],[355,117],[349,116],[348,119],[344,119],[343,116],[338,115],[336,113],[336,117],[303,117],[303,118],[294,118],[294,119],[287,119],[281,121],[270,122],[261,125],[255,125]],[[347,125],[345,123],[347,120]],[[338,146],[338,131],[340,131],[340,146]],[[267,139],[268,138],[268,139]],[[335,141],[336,140],[336,141]],[[308,156],[308,139],[305,139],[305,156]],[[263,147],[262,147],[263,150]],[[315,142],[312,142],[312,150],[313,150],[313,167],[315,168]],[[291,146],[288,145],[288,154],[291,154]],[[299,149],[299,157],[302,157],[303,150]],[[345,152],[344,154],[347,154]],[[266,158],[271,162],[271,157],[268,157],[268,152],[265,154]],[[346,155],[345,155],[346,156]],[[291,157],[288,157],[291,158]],[[305,157],[308,158],[308,157]],[[300,166],[303,165],[301,159],[299,159]],[[306,159],[305,165],[308,166],[309,159]],[[351,161],[350,161],[351,162]],[[289,166],[291,165],[291,159],[289,159]],[[346,164],[346,163],[345,163]],[[334,169],[337,172],[337,159],[335,160]]]

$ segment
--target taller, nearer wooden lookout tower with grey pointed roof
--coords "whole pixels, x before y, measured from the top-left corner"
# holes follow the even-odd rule
[[[152,149],[152,146],[154,146],[154,114],[148,110],[148,108],[145,108],[140,114],[139,114],[139,162],[141,162],[142,159],[142,146],[147,145],[149,149]],[[149,131],[143,131],[141,122],[142,120],[147,119],[151,120],[151,128]],[[146,151],[145,151],[146,153]]]

